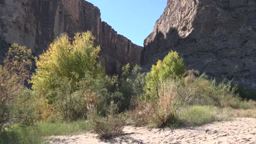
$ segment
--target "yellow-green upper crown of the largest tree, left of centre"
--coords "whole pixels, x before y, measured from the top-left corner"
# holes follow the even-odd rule
[[[75,92],[77,83],[88,71],[91,77],[104,75],[103,68],[97,62],[100,46],[95,47],[94,40],[91,32],[75,34],[72,44],[67,34],[57,38],[36,61],[37,70],[31,81],[34,91],[46,95],[59,87],[55,81],[68,79]],[[54,97],[48,94],[49,103],[53,103]]]

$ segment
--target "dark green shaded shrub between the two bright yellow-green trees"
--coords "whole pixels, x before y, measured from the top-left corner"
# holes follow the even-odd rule
[[[142,68],[138,65],[135,65],[133,69],[130,67],[130,64],[123,67],[118,82],[118,91],[123,94],[123,99],[119,101],[119,111],[122,112],[135,107],[136,100],[143,94],[146,73],[142,73],[141,71]]]

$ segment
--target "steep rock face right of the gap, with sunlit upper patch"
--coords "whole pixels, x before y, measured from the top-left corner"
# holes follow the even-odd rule
[[[144,41],[146,69],[177,50],[188,69],[256,88],[255,0],[168,0]]]

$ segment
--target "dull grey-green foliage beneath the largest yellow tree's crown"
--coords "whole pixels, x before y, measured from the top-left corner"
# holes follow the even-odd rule
[[[93,78],[91,74],[85,74],[85,77],[77,83],[75,92],[73,92],[71,80],[66,78],[55,81],[56,85],[59,85],[58,88],[51,90],[48,94],[55,95],[51,106],[56,118],[61,121],[87,118],[88,104],[96,105],[97,110],[104,115],[111,100],[122,98],[121,93],[112,91],[116,81],[116,77],[97,76]]]

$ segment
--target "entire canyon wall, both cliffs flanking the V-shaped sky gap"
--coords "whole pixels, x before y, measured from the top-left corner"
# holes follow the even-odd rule
[[[13,43],[40,55],[61,33],[91,31],[107,74],[126,63],[149,70],[176,50],[188,69],[256,88],[255,0],[168,0],[144,49],[101,21],[83,0],[0,0],[0,62]]]

